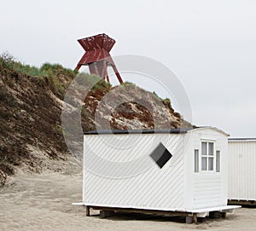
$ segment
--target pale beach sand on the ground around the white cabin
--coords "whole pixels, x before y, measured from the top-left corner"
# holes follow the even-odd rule
[[[255,230],[256,208],[242,208],[227,217],[197,225],[173,217],[118,214],[105,219],[99,211],[85,217],[82,168],[63,164],[40,174],[19,170],[0,188],[0,230]]]

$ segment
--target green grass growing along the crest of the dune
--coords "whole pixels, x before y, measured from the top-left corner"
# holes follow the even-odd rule
[[[51,84],[54,85],[56,90],[56,94],[58,96],[63,96],[65,94],[65,90],[67,90],[68,84],[78,76],[77,81],[81,85],[92,85],[92,91],[103,90],[108,91],[112,88],[112,85],[106,82],[104,79],[99,78],[96,75],[90,75],[85,72],[77,72],[69,68],[65,68],[61,66],[61,64],[50,64],[48,62],[44,63],[41,67],[30,66],[24,64],[20,61],[16,61],[13,55],[10,55],[8,52],[4,52],[0,55],[0,74],[11,74],[13,76],[23,75],[23,76],[31,76],[38,78],[47,78]],[[79,82],[80,81],[80,82]],[[121,86],[136,86],[131,82],[124,82]],[[52,89],[54,90],[54,89]],[[155,92],[152,93],[157,100],[164,101],[165,103],[170,103],[170,99],[162,99]],[[61,97],[62,98],[62,97]]]

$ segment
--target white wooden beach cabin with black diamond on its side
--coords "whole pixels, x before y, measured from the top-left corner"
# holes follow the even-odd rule
[[[83,202],[102,211],[225,214],[228,135],[212,127],[84,133]],[[193,220],[192,220],[193,221]]]

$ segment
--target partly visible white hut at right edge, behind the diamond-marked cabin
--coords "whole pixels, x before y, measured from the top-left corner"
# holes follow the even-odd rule
[[[256,138],[229,139],[230,204],[256,205]]]

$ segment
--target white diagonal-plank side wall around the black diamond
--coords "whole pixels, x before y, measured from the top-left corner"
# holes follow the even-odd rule
[[[183,210],[183,136],[84,136],[84,204]],[[149,157],[160,142],[173,155],[162,169]]]

